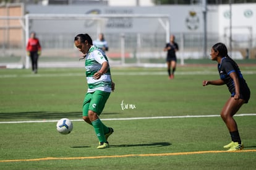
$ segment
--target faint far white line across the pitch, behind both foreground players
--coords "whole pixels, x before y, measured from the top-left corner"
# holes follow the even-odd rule
[[[209,74],[218,74],[217,71],[189,71],[189,72],[176,72],[177,75],[209,75]],[[256,74],[256,71],[244,71],[242,74]],[[112,75],[166,75],[166,72],[113,72]],[[0,75],[1,78],[15,78],[15,77],[74,77],[74,76],[85,76],[83,73],[77,74],[24,74],[24,75],[17,75],[17,74],[6,74]]]

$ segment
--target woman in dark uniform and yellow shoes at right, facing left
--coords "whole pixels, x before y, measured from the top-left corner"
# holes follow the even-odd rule
[[[228,151],[242,150],[244,145],[241,142],[236,121],[233,116],[241,108],[242,104],[248,103],[250,89],[245,82],[236,62],[228,56],[228,49],[223,43],[216,43],[211,48],[211,60],[218,62],[220,79],[203,80],[203,86],[224,85],[229,89],[231,97],[228,99],[221,111],[221,118],[228,127],[232,142],[225,145]]]

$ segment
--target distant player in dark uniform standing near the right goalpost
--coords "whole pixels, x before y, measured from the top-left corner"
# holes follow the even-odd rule
[[[167,70],[169,79],[174,79],[174,72],[176,70],[176,51],[179,50],[179,46],[174,41],[175,36],[170,36],[170,42],[166,44],[164,51],[167,51],[166,63],[167,63]],[[172,69],[172,70],[171,70]]]

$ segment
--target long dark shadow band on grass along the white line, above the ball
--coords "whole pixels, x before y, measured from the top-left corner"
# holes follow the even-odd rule
[[[102,113],[102,114],[119,114],[119,113]],[[47,112],[47,111],[30,111],[17,113],[0,113],[1,119],[59,119],[60,117],[68,117],[80,119],[82,111],[78,112]]]

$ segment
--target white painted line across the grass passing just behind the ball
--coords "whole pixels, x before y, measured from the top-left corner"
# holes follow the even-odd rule
[[[237,114],[235,116],[256,116],[256,113],[249,114]],[[157,117],[127,117],[127,118],[111,118],[101,119],[101,121],[131,121],[140,119],[174,119],[174,118],[198,118],[198,117],[220,117],[220,115],[198,115],[198,116],[157,116]],[[61,118],[60,118],[61,119]],[[46,123],[46,122],[58,122],[59,120],[43,120],[43,121],[7,121],[0,122],[0,124],[22,124],[22,123]],[[81,119],[72,119],[73,122],[83,121]]]

